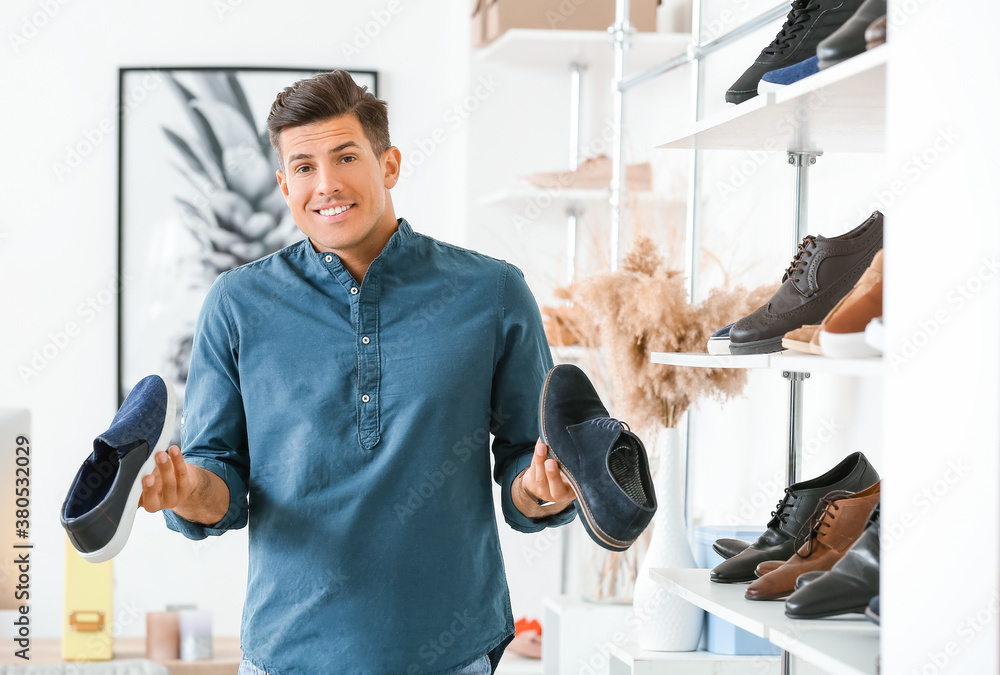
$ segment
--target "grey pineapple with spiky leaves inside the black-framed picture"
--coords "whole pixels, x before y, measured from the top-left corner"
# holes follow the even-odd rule
[[[226,270],[278,251],[302,234],[275,179],[267,110],[255,119],[237,74],[190,72],[185,79],[190,86],[167,75],[194,129],[192,134],[162,126],[176,151],[174,168],[190,186],[174,199],[184,229],[198,243],[191,283],[207,288]],[[167,355],[167,374],[181,387],[193,328],[179,331]]]

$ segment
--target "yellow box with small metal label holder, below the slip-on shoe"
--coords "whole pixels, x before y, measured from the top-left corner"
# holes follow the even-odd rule
[[[113,655],[111,562],[87,562],[66,538],[62,655],[67,661],[107,661]]]

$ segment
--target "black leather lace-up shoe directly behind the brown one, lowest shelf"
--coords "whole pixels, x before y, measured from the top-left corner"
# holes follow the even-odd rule
[[[760,563],[792,557],[798,548],[795,536],[824,495],[834,490],[860,492],[878,480],[878,472],[868,458],[855,452],[822,476],[785,488],[785,496],[771,512],[773,517],[764,534],[750,548],[716,565],[712,581],[723,584],[754,581],[757,578],[754,570]]]

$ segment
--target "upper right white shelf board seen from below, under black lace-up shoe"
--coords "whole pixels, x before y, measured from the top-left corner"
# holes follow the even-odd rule
[[[698,150],[885,151],[882,45],[700,120],[657,144]]]

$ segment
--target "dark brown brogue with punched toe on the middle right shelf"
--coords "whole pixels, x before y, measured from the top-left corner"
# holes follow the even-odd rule
[[[880,248],[882,214],[878,211],[839,237],[804,238],[781,278],[781,286],[767,304],[733,324],[729,331],[729,352],[778,352],[785,333],[822,323],[854,288]]]

